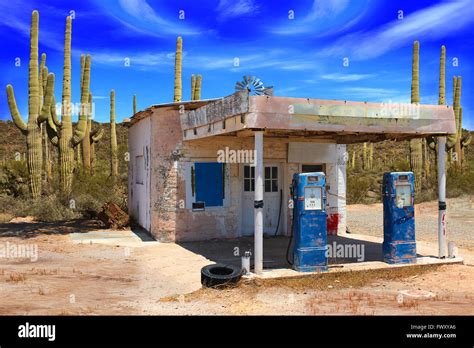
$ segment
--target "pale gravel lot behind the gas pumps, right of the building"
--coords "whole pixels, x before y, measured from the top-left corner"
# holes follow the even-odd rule
[[[447,200],[448,241],[474,250],[474,196]],[[417,240],[436,242],[438,238],[438,202],[415,205]],[[383,206],[381,203],[347,206],[347,225],[352,233],[383,237]]]

